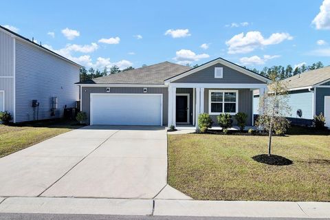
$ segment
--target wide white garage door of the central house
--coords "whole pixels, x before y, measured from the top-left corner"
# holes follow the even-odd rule
[[[162,125],[162,94],[91,94],[91,124]]]

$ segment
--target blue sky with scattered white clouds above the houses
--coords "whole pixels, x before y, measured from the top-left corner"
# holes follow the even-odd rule
[[[86,67],[195,65],[217,57],[257,69],[330,65],[330,0],[7,1],[4,6],[1,25]]]

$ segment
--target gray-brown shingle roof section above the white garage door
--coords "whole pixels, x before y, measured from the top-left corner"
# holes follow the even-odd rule
[[[177,76],[191,67],[170,62],[158,63],[146,67],[110,74],[82,82],[82,84],[151,84],[162,85],[164,80]]]

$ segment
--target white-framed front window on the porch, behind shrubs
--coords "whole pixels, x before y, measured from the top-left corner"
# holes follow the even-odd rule
[[[238,91],[217,91],[210,90],[209,113],[236,113]]]

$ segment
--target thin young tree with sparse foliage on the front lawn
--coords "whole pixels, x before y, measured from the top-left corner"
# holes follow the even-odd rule
[[[286,131],[288,121],[285,115],[290,115],[291,107],[287,104],[289,98],[287,85],[271,76],[272,83],[268,85],[268,92],[260,96],[260,115],[256,122],[257,126],[262,126],[268,131],[268,156],[272,155],[272,133],[274,131]],[[287,121],[287,123],[286,123]]]

